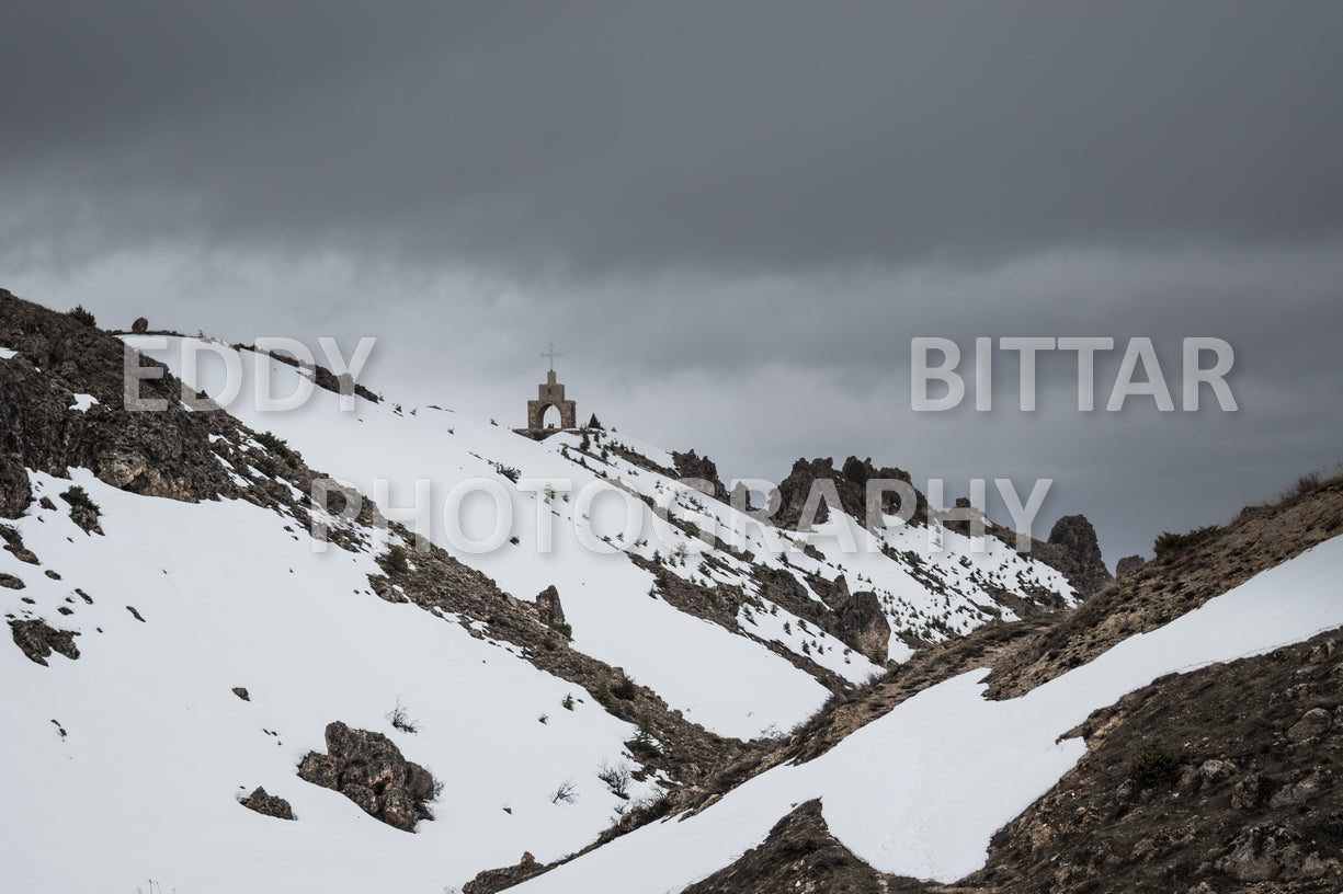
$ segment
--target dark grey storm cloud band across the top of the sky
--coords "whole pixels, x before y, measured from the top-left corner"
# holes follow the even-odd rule
[[[1336,4],[0,15],[11,238],[189,226],[599,271],[1343,228]]]

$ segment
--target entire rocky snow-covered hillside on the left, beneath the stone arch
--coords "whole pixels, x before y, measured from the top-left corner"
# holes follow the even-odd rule
[[[3,290],[0,345],[0,889],[453,889],[702,787],[911,644],[1074,599],[992,538],[947,533],[939,552],[923,526],[833,511],[803,544],[615,432],[535,442],[372,395],[345,413],[326,391],[235,419],[171,377],[141,383],[164,411],[134,412],[118,341]],[[298,385],[261,361],[274,393]],[[326,474],[364,510],[314,505]],[[412,532],[371,507],[403,518],[418,479],[431,549],[403,552]],[[510,507],[498,549],[445,528],[462,481]],[[494,521],[483,494],[465,501],[467,540]],[[564,617],[532,601],[552,587]],[[338,754],[341,725],[383,750]],[[387,813],[407,766],[442,787],[414,834]],[[297,822],[240,804],[258,787]]]

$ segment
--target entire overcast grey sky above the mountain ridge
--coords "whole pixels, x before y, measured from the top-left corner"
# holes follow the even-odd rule
[[[1340,46],[1336,3],[7,3],[0,286],[377,336],[372,387],[504,424],[555,341],[725,475],[1049,477],[1034,533],[1113,564],[1343,459]],[[1101,407],[1128,338],[1178,403],[1219,337],[1240,411],[1080,413],[1053,357],[1025,413],[999,353],[994,411],[916,413],[931,336],[1115,338]]]

